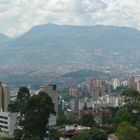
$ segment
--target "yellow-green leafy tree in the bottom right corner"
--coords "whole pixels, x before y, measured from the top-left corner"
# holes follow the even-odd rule
[[[127,122],[120,123],[115,135],[119,140],[140,140],[140,133],[138,129]]]

